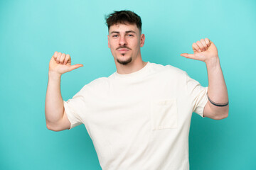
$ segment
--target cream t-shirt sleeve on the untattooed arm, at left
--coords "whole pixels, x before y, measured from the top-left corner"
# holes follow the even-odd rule
[[[73,98],[63,101],[65,113],[70,120],[70,129],[82,124],[81,115],[85,111],[84,89],[81,89]]]

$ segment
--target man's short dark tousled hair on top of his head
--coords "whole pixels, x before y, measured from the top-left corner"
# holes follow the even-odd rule
[[[142,32],[142,19],[133,11],[114,11],[113,13],[105,16],[105,20],[108,30],[110,30],[110,26],[113,26],[117,23],[122,23],[136,24],[137,28],[139,28],[140,32]]]

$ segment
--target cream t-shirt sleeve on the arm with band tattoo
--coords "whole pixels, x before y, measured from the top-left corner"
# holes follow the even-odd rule
[[[208,87],[201,86],[201,84],[199,84],[198,81],[191,79],[191,77],[189,77],[188,74],[186,74],[186,86],[188,96],[191,99],[193,112],[204,117],[203,109],[208,101]]]

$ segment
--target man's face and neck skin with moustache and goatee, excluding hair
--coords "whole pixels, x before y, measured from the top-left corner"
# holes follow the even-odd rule
[[[119,74],[136,72],[146,65],[142,61],[140,50],[144,45],[145,35],[135,24],[110,26],[107,40]]]

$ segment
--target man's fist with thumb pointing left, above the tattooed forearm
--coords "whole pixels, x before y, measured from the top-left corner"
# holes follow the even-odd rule
[[[206,63],[218,59],[217,47],[208,38],[194,42],[192,44],[192,49],[194,52],[193,54],[182,53],[181,56]]]

